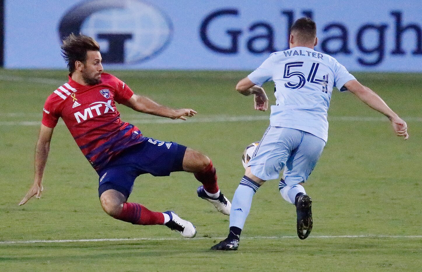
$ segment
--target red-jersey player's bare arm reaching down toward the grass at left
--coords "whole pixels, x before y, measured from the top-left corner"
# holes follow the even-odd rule
[[[40,136],[38,137],[37,146],[35,147],[35,177],[32,188],[27,192],[25,197],[19,202],[20,205],[24,205],[31,197],[37,195],[39,199],[41,192],[43,191],[43,175],[44,169],[46,168],[47,157],[50,151],[50,141],[53,135],[53,129],[41,125]]]

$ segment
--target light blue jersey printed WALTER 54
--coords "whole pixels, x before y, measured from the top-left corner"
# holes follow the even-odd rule
[[[299,129],[324,141],[333,87],[343,91],[355,79],[336,59],[308,47],[271,54],[248,78],[258,86],[270,80],[276,84],[271,126]]]

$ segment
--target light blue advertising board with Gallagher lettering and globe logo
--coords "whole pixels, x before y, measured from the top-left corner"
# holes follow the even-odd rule
[[[6,0],[5,67],[65,68],[61,39],[95,38],[113,69],[253,70],[295,19],[351,71],[421,72],[420,1]]]

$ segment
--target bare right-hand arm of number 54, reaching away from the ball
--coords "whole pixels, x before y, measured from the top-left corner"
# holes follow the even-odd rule
[[[366,105],[370,106],[374,110],[387,116],[397,136],[403,136],[404,140],[407,140],[409,135],[407,133],[407,124],[403,119],[388,107],[388,105],[378,96],[375,92],[366,86],[363,86],[357,80],[351,80],[344,84],[344,87],[356,95]]]

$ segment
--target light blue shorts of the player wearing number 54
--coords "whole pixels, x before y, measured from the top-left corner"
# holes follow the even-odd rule
[[[262,180],[278,179],[284,166],[285,183],[305,182],[321,156],[325,141],[298,129],[268,127],[248,166]]]

